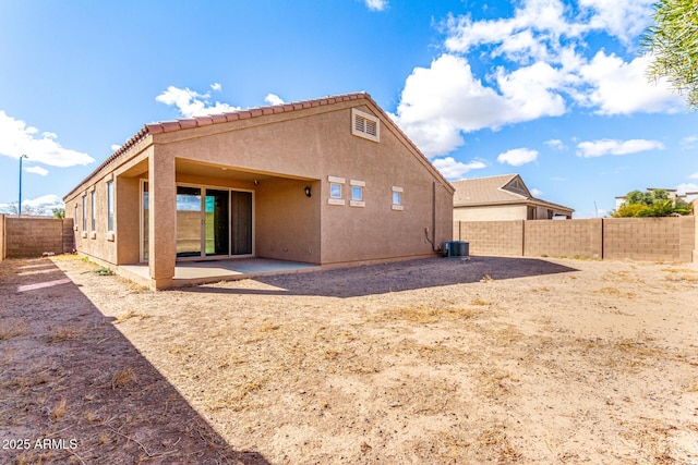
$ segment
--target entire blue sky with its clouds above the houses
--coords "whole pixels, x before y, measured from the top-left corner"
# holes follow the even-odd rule
[[[0,1],[0,209],[61,198],[145,123],[365,90],[449,179],[575,217],[698,191],[698,113],[648,83],[646,0]]]

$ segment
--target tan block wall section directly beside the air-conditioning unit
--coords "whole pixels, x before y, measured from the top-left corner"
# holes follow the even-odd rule
[[[521,256],[524,220],[460,221],[454,240],[468,242],[473,255]]]

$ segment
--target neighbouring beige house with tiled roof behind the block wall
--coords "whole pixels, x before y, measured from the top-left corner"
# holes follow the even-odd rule
[[[454,221],[571,219],[575,210],[533,197],[518,174],[452,182]]]

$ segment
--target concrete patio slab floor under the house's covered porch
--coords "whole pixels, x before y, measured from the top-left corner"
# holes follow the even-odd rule
[[[258,276],[320,270],[318,265],[272,258],[233,258],[229,260],[178,261],[172,286],[233,281]],[[143,285],[149,285],[147,264],[121,265],[117,273]]]

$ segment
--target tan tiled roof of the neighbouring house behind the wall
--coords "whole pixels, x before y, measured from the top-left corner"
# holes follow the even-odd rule
[[[575,211],[569,207],[533,197],[518,174],[452,181],[452,184],[456,187],[454,207],[537,204],[557,210]]]

